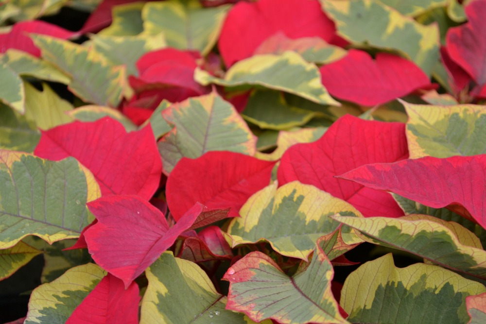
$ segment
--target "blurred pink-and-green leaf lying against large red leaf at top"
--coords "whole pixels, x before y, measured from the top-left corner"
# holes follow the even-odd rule
[[[320,37],[291,39],[283,32],[278,32],[265,39],[253,54],[282,54],[285,51],[295,51],[307,62],[320,64],[337,61],[346,55],[345,50],[328,44]]]

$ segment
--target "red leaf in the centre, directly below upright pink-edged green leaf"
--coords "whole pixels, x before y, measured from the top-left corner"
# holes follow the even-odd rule
[[[178,221],[195,203],[210,209],[231,207],[238,217],[246,200],[270,183],[275,162],[241,153],[208,152],[196,159],[183,157],[167,179],[167,204]]]

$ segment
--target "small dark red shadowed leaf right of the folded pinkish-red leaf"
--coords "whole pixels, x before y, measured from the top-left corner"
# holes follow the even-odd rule
[[[209,226],[184,240],[180,258],[193,262],[205,262],[233,257],[231,248],[218,226]]]

